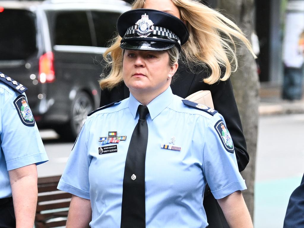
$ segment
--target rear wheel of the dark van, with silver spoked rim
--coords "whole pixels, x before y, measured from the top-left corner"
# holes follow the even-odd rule
[[[56,129],[63,140],[75,140],[81,127],[85,123],[87,115],[93,111],[93,102],[85,92],[79,92],[71,104],[71,119],[65,126]]]

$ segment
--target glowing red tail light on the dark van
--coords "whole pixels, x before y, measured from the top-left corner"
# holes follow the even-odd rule
[[[55,81],[54,54],[49,51],[43,54],[39,59],[39,77],[40,83],[52,83]]]

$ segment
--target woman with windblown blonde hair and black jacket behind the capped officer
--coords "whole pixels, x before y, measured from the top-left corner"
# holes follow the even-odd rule
[[[195,0],[136,0],[133,9],[156,9],[181,19],[189,31],[188,41],[181,47],[181,61],[171,84],[172,92],[182,98],[199,90],[210,90],[214,108],[223,115],[235,147],[239,171],[249,162],[246,141],[233,95],[230,74],[237,70],[235,41],[249,41],[232,21]],[[100,81],[100,105],[129,97],[122,78],[121,37],[117,36],[104,57],[109,62]],[[254,55],[254,54],[253,54]],[[229,227],[208,187],[204,207],[209,228]]]

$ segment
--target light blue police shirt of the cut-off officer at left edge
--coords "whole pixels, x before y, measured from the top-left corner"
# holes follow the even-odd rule
[[[18,96],[21,94],[0,81],[0,199],[12,196],[9,170],[48,161],[36,123],[22,123],[14,105]],[[21,99],[27,101],[25,93]]]

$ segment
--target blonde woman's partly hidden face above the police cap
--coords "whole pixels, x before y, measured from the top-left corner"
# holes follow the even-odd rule
[[[181,19],[178,8],[173,4],[171,0],[146,0],[144,5],[145,9],[156,9],[166,13],[170,13],[173,16]]]

